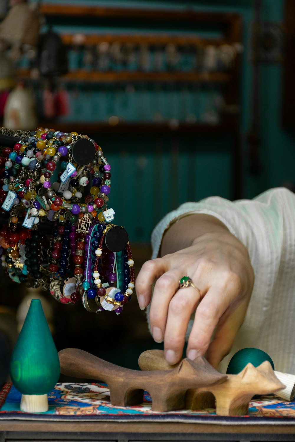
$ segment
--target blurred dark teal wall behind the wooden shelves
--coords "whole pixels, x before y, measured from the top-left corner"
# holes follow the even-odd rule
[[[50,1],[46,0],[47,3]],[[57,3],[52,0],[51,3]],[[73,1],[69,4],[97,4],[122,7],[187,8],[209,11],[235,11],[243,17],[243,62],[241,75],[241,126],[245,152],[245,197],[252,198],[260,192],[295,182],[295,138],[281,128],[282,65],[261,65],[261,162],[262,171],[257,177],[247,170],[246,135],[250,130],[252,68],[249,63],[250,23],[253,4],[240,1]],[[282,21],[284,2],[264,0],[262,19]],[[55,29],[63,32],[138,32],[125,23],[117,28],[102,23],[73,23],[64,19],[55,23]],[[163,24],[164,27],[164,24]],[[185,32],[185,30],[184,30]],[[188,30],[187,30],[188,32]],[[210,91],[209,91],[210,93]],[[107,97],[106,97],[107,99]],[[83,111],[81,113],[83,118]],[[74,128],[73,128],[74,129]],[[181,202],[198,200],[213,194],[231,198],[233,140],[228,136],[196,139],[175,137],[141,137],[139,135],[103,136],[96,140],[102,145],[112,165],[111,206],[116,212],[115,221],[126,226],[131,240],[147,241],[157,221],[168,210]]]

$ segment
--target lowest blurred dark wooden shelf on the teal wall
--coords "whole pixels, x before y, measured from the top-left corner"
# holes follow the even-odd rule
[[[173,124],[174,123],[174,124]],[[141,134],[141,135],[196,135],[204,134],[218,134],[218,133],[234,133],[237,128],[235,120],[225,122],[222,124],[206,124],[206,123],[183,123],[177,124],[175,120],[172,122],[142,122],[142,123],[122,123],[119,122],[115,126],[107,123],[81,123],[81,122],[44,122],[39,123],[41,127],[54,128],[61,132],[76,131],[80,134]]]

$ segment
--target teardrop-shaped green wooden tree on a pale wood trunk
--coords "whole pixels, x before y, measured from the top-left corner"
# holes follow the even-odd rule
[[[47,393],[54,388],[59,373],[57,350],[41,301],[32,299],[10,363],[11,380],[22,393],[21,410],[47,411]]]

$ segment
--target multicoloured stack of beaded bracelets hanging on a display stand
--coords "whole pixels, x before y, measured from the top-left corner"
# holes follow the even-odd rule
[[[63,303],[82,297],[89,311],[121,312],[134,288],[134,262],[128,239],[120,250],[103,243],[118,226],[109,224],[111,166],[100,146],[87,135],[41,127],[14,134],[0,129],[5,133],[19,142],[0,148],[3,267],[15,282],[50,289]],[[88,300],[96,309],[88,308]]]

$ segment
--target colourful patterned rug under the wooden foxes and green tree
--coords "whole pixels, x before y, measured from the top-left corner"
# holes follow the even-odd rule
[[[59,383],[48,395],[49,410],[44,413],[25,413],[19,409],[21,394],[7,383],[0,391],[0,419],[34,420],[97,420],[97,421],[153,421],[212,424],[295,424],[295,402],[282,402],[276,396],[264,396],[250,402],[245,416],[216,416],[215,409],[152,412],[147,392],[144,402],[133,407],[110,404],[109,389],[98,383]]]

